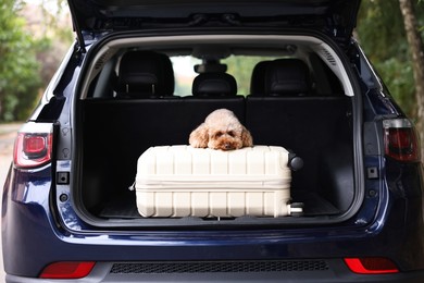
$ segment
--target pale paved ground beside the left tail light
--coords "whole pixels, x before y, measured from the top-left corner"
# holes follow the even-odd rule
[[[0,124],[0,187],[3,188],[4,180],[12,161],[13,142],[21,124]],[[0,196],[1,197],[1,196]],[[0,241],[1,248],[1,241]],[[0,253],[0,282],[4,282],[3,257]]]

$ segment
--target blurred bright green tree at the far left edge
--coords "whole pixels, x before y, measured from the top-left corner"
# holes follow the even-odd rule
[[[22,120],[34,108],[40,87],[37,42],[17,15],[22,2],[0,3],[0,121]]]

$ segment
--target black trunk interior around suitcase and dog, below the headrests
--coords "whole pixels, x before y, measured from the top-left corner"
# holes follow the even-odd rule
[[[82,200],[100,219],[137,219],[137,159],[150,146],[186,145],[194,127],[225,106],[246,111],[257,145],[283,146],[303,159],[292,172],[292,201],[304,217],[334,217],[352,205],[356,188],[351,98],[82,102],[84,116]],[[245,109],[244,109],[245,108]]]

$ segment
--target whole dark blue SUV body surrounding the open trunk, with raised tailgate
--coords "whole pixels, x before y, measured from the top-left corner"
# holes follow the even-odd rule
[[[351,38],[360,1],[267,1],[265,8],[262,2],[253,1],[213,4],[137,0],[68,2],[82,44],[72,46],[28,121],[35,134],[39,123],[51,124],[53,158],[47,164],[30,169],[12,165],[4,184],[2,247],[8,282],[71,282],[39,279],[50,263],[67,261],[96,262],[86,278],[72,282],[424,280],[422,164],[416,160],[399,161],[385,153],[385,123],[408,120]],[[257,8],[253,12],[252,7]],[[195,10],[200,17],[191,15]],[[228,11],[230,16],[222,20],[223,13],[228,15]],[[260,21],[274,15],[274,11],[275,19],[261,26]],[[296,22],[295,19],[300,20]],[[308,19],[312,19],[310,23]],[[190,21],[192,24],[195,20],[200,22],[190,27]],[[245,21],[246,25],[237,26],[235,21]],[[326,24],[321,25],[323,23]],[[348,198],[352,204],[346,205],[346,211],[259,221],[249,216],[229,221],[102,219],[88,211],[80,197],[83,182],[79,177],[89,168],[84,168],[83,157],[87,152],[83,152],[82,146],[86,140],[80,137],[85,121],[78,114],[82,101],[96,100],[87,96],[87,89],[96,79],[92,70],[103,66],[98,60],[103,56],[99,50],[104,51],[102,48],[109,48],[110,42],[119,48],[121,44],[120,51],[126,51],[125,48],[134,48],[132,42],[148,48],[146,42],[153,42],[151,46],[154,47],[159,39],[166,39],[174,47],[180,44],[178,37],[190,38],[194,44],[201,38],[203,41],[200,42],[204,44],[207,39],[220,36],[236,40],[238,35],[245,36],[246,47],[253,41],[247,39],[249,36],[261,39],[263,34],[275,38],[286,35],[282,42],[290,41],[290,38],[299,42],[299,37],[322,40],[334,50],[331,59],[338,59],[335,64],[342,69],[339,79],[341,77],[345,85],[350,86],[345,88],[341,98],[354,106],[346,113],[353,115],[349,120],[353,132],[352,150],[348,151],[352,157],[337,156],[337,148],[324,152],[335,152],[339,160],[353,160],[349,170],[354,171],[351,183],[356,189],[337,192],[354,194]],[[213,48],[208,50],[213,51]],[[407,124],[411,126],[411,123]],[[99,126],[107,132],[110,125]],[[309,138],[313,142],[317,137]],[[331,169],[339,170],[337,164]],[[340,180],[344,177],[340,173],[332,182],[344,184],[346,180]],[[344,188],[353,186],[345,185]],[[123,185],[126,189],[125,186],[127,184]],[[358,274],[345,263],[347,258],[388,259],[399,272]],[[123,271],[125,269],[127,271]]]

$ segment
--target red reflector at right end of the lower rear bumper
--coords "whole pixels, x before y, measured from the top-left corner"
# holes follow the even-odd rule
[[[348,268],[359,274],[385,274],[399,272],[396,264],[387,258],[345,258]]]

